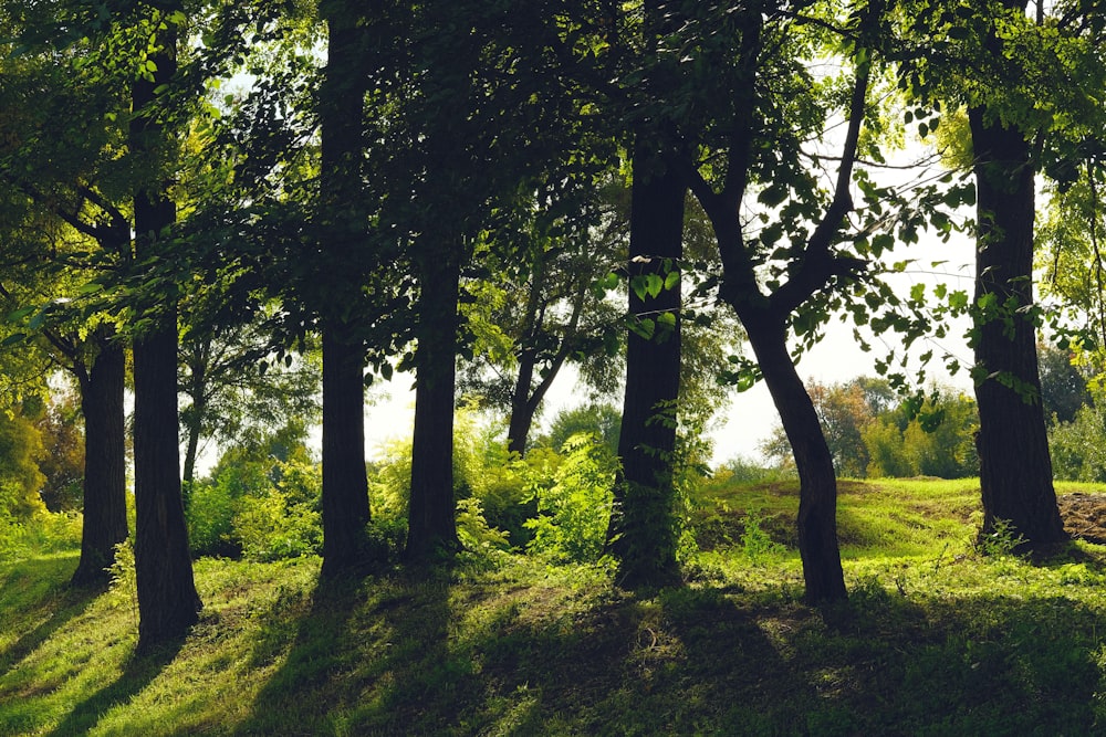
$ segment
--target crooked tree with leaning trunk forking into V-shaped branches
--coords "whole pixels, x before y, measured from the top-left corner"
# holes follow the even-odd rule
[[[852,18],[851,31],[860,38],[870,38],[872,27],[879,19],[878,8],[862,8]],[[709,18],[709,21],[708,21]],[[731,13],[730,18],[710,17],[696,19],[699,23],[719,23],[726,29],[726,43],[732,44],[723,53],[734,61],[721,69],[726,74],[717,74],[710,84],[711,92],[724,95],[727,104],[718,106],[716,116],[726,133],[718,139],[720,165],[724,172],[712,181],[711,173],[700,170],[700,160],[695,149],[685,149],[680,159],[690,188],[710,218],[718,241],[723,274],[719,296],[729,304],[741,319],[757,356],[758,370],[763,376],[783,422],[784,431],[792,446],[800,476],[799,540],[803,559],[807,601],[821,602],[846,597],[844,573],[836,535],[836,480],[833,456],[822,433],[817,412],[802,380],[795,371],[787,336],[790,324],[800,317],[810,319],[800,309],[812,302],[815,295],[832,288],[832,285],[847,284],[863,271],[864,264],[855,256],[838,254],[833,246],[838,232],[845,224],[845,215],[852,210],[853,201],[849,182],[857,156],[860,124],[864,119],[872,64],[870,46],[854,42],[853,61],[856,66],[852,84],[846,117],[848,127],[842,146],[841,165],[836,185],[827,206],[821,206],[822,214],[813,231],[795,228],[795,218],[815,214],[818,198],[803,201],[810,196],[811,182],[803,178],[799,167],[799,136],[796,128],[787,128],[797,120],[784,120],[780,127],[778,119],[770,117],[774,110],[773,98],[763,95],[760,87],[762,75],[766,75],[772,64],[780,64],[776,78],[782,73],[797,84],[804,77],[794,61],[780,50],[786,49],[786,34],[794,29],[782,15],[768,19],[760,8],[744,9]],[[855,38],[855,36],[853,36]],[[695,51],[703,62],[711,60],[720,49],[712,48],[710,41],[697,40]],[[770,55],[771,52],[778,54]],[[719,63],[722,63],[719,60]],[[707,64],[703,64],[707,66]],[[719,88],[721,87],[721,88]],[[723,92],[724,91],[724,92]],[[792,90],[791,94],[797,92]],[[771,94],[782,94],[773,90]],[[763,96],[762,96],[763,95]],[[797,110],[796,110],[797,112]],[[705,133],[709,134],[710,128]],[[778,137],[774,148],[778,152],[772,160],[759,159],[759,141],[764,136]],[[703,135],[703,134],[699,134]],[[773,167],[776,161],[780,168]],[[785,209],[780,227],[765,228],[759,236],[750,238],[741,218],[741,206],[753,182],[764,182],[759,193],[761,203],[772,207],[783,202],[793,190],[795,206],[790,214]],[[765,248],[784,236],[784,228],[792,239],[790,246],[781,251],[789,257],[783,273],[766,284],[759,277],[758,270],[764,261]]]

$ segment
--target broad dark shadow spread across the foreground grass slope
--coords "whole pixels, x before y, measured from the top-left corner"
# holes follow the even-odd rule
[[[255,657],[284,660],[236,733],[1103,734],[1106,622],[1064,598],[873,579],[813,610],[405,571],[290,609],[270,613]]]

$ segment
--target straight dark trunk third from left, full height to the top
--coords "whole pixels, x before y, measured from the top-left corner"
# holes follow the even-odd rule
[[[327,21],[326,75],[320,91],[322,266],[319,295],[323,339],[323,568],[333,577],[368,559],[368,482],[365,475],[365,344],[351,319],[367,259],[361,206],[366,77],[364,28],[351,3],[322,4]]]

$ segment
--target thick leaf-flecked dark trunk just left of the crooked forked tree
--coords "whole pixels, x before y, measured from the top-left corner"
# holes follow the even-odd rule
[[[658,165],[638,141],[634,150],[630,210],[630,278],[657,275],[661,281],[679,269],[684,249],[687,186],[672,169],[650,173]],[[676,409],[680,389],[680,285],[656,296],[629,291],[630,319],[656,325],[650,337],[630,331],[626,346],[626,392],[623,400],[615,481],[615,506],[608,547],[619,560],[624,586],[664,586],[679,580],[676,562],[672,468],[676,454]],[[661,325],[672,315],[671,329]]]

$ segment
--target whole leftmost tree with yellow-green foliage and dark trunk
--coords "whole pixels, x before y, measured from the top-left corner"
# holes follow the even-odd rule
[[[36,38],[42,27],[62,22],[52,9],[40,10],[48,17],[31,13],[12,29],[23,51],[10,64],[4,106],[22,112],[3,123],[0,176],[10,192],[0,295],[13,310],[6,345],[36,357],[41,372],[60,367],[77,382],[86,431],[82,554],[73,582],[98,583],[107,578],[114,546],[127,537],[125,349],[115,336],[115,317],[73,297],[92,274],[117,269],[129,248],[131,222],[104,193],[117,192],[121,183],[117,156],[107,151],[121,145],[123,128],[115,120],[122,110],[116,81],[88,64],[96,57],[90,44],[58,50],[58,39]],[[45,106],[20,106],[40,88],[50,91]]]

